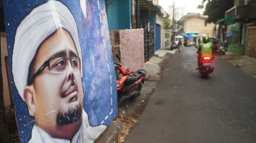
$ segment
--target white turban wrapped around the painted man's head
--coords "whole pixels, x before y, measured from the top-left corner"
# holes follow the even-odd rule
[[[16,30],[13,48],[13,78],[20,97],[24,100],[24,88],[27,85],[29,66],[40,44],[60,27],[69,32],[73,38],[78,57],[81,60],[82,52],[78,38],[76,21],[69,9],[61,2],[49,2],[34,8],[27,15]],[[24,100],[25,101],[25,100]]]

